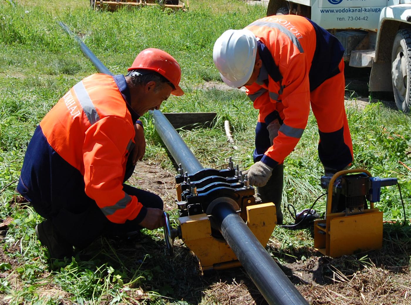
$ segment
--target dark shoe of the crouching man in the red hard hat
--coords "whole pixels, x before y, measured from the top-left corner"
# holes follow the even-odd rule
[[[58,237],[50,220],[36,225],[36,234],[40,243],[47,247],[51,259],[64,259],[73,255],[73,247]]]

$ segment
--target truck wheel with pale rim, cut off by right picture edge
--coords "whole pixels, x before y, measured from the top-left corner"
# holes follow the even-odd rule
[[[411,30],[397,32],[391,57],[394,99],[398,110],[409,112],[411,105]]]

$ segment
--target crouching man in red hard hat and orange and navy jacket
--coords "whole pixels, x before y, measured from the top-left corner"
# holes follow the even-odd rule
[[[51,258],[70,256],[100,234],[164,225],[161,198],[124,182],[145,153],[139,117],[184,93],[181,70],[171,55],[150,48],[128,71],[74,85],[27,147],[17,190],[46,218],[36,234]]]

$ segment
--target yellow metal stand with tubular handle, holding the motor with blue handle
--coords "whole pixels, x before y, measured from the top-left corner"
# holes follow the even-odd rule
[[[346,216],[345,212],[331,213],[331,194],[335,179],[344,174],[359,172],[372,177],[367,170],[353,169],[337,172],[330,180],[326,219],[314,221],[314,248],[324,255],[340,257],[382,247],[383,212],[374,208],[374,202],[370,202],[370,209],[365,209],[360,214]]]

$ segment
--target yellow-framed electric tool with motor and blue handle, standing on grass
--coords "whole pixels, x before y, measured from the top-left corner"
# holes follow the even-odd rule
[[[383,212],[374,202],[380,200],[381,186],[395,184],[396,178],[372,177],[363,169],[321,177],[328,189],[326,217],[314,222],[314,248],[330,257],[380,249]]]

